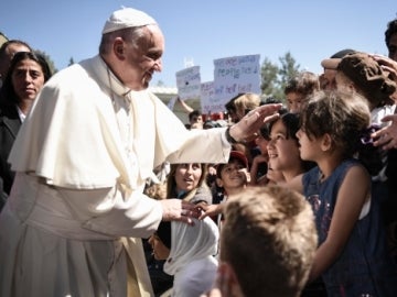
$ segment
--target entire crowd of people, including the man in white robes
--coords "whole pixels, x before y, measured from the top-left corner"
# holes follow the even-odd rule
[[[397,296],[397,20],[286,105],[182,123],[147,90],[164,36],[122,8],[52,74],[0,48],[1,296]],[[22,285],[23,284],[23,285]]]

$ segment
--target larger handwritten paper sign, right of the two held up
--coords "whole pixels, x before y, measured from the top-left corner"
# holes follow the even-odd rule
[[[224,105],[242,92],[260,94],[260,55],[214,59],[214,97]]]

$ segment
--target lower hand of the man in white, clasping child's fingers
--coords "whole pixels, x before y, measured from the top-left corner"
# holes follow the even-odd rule
[[[159,202],[163,208],[163,221],[181,221],[194,224],[192,218],[197,219],[201,215],[195,205],[181,199],[163,199]]]

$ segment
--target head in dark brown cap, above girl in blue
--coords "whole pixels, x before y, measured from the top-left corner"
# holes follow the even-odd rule
[[[335,79],[339,90],[357,91],[368,100],[371,109],[394,103],[390,96],[396,91],[396,82],[368,54],[344,56],[337,65]]]

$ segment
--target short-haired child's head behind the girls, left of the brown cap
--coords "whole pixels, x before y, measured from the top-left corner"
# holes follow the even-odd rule
[[[290,112],[299,112],[307,98],[318,90],[320,90],[318,75],[310,72],[297,74],[285,87],[288,110]]]

